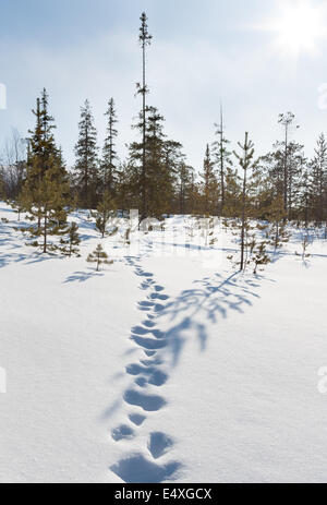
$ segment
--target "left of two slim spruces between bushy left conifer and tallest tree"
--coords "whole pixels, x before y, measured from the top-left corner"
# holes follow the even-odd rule
[[[78,142],[75,146],[75,177],[83,208],[93,208],[97,203],[98,158],[97,131],[88,100],[81,108]]]

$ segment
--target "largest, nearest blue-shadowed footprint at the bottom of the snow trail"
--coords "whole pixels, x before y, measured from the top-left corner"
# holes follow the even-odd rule
[[[159,466],[148,461],[142,454],[136,454],[120,460],[117,465],[110,467],[110,470],[125,483],[153,484],[174,480],[175,472],[180,468],[181,464],[177,461]]]

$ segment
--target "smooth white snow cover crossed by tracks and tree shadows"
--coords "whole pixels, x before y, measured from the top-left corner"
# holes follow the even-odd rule
[[[180,216],[129,249],[76,213],[80,258],[0,218],[0,482],[326,482],[326,240],[254,276]]]

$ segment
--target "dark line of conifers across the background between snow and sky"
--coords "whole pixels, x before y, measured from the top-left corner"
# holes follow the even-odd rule
[[[203,167],[191,167],[182,145],[166,135],[160,111],[147,104],[145,63],[152,40],[143,13],[142,83],[137,84],[142,109],[132,125],[138,132],[138,142],[128,146],[125,159],[119,159],[117,154],[119,116],[113,98],[104,111],[107,134],[101,148],[88,100],[81,108],[75,165],[70,169],[56,144],[56,125],[46,89],[33,110],[34,130],[25,140],[13,131],[7,142],[1,158],[1,197],[29,215],[36,237],[43,237],[46,244],[48,233],[66,232],[66,213],[77,207],[98,208],[105,215],[113,208],[138,208],[142,218],[194,214],[326,225],[324,134],[317,140],[314,157],[307,159],[304,146],[290,140],[295,129],[294,116],[280,115],[282,140],[272,145],[270,153],[256,159],[247,134],[245,144],[239,144],[239,153],[230,148],[221,110],[215,141],[204,146]],[[252,161],[247,167],[249,149]]]

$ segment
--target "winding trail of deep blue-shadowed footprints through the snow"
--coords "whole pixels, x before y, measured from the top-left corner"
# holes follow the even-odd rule
[[[137,407],[137,411],[129,414],[131,424],[122,424],[112,430],[113,441],[132,440],[136,436],[135,430],[146,421],[146,412],[159,411],[167,405],[165,398],[147,390],[155,386],[159,388],[168,381],[168,375],[160,366],[165,364],[160,350],[167,347],[166,334],[157,329],[156,320],[165,309],[162,302],[169,299],[164,293],[164,288],[154,280],[154,275],[145,272],[137,263],[140,257],[128,257],[128,264],[135,267],[135,274],[142,278],[141,289],[147,291],[146,301],[138,303],[140,311],[144,312],[145,321],[140,326],[132,328],[132,340],[144,351],[144,359],[126,366],[126,373],[135,377],[135,386],[124,393],[124,401],[131,407]],[[142,412],[142,413],[141,413]],[[147,449],[154,460],[158,460],[173,446],[173,441],[167,434],[155,432],[149,434]],[[111,470],[123,481],[133,482],[161,482],[172,478],[180,468],[179,462],[159,466],[155,461],[146,459],[142,454],[122,459],[111,467]]]

